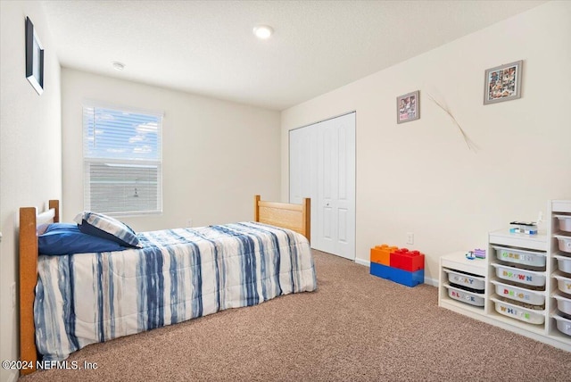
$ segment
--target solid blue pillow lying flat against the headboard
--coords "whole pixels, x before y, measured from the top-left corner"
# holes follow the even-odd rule
[[[38,252],[41,254],[72,254],[122,251],[126,249],[110,240],[92,237],[79,230],[77,224],[53,223],[37,237]]]

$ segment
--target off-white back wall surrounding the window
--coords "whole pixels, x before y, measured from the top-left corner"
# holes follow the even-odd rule
[[[119,218],[137,231],[252,220],[253,195],[277,200],[279,113],[62,69],[64,221],[83,210],[82,103],[164,112],[163,213]]]

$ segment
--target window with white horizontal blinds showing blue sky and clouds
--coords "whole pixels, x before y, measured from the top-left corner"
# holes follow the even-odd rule
[[[161,212],[161,129],[156,113],[84,106],[84,209]]]

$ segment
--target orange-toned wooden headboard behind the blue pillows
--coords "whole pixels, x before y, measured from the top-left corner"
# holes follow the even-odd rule
[[[36,369],[36,329],[34,327],[34,299],[37,284],[37,227],[60,221],[60,202],[50,200],[48,211],[37,213],[36,207],[20,209],[20,361],[31,362]]]

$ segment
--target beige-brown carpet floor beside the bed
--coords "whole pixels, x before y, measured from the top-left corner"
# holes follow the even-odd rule
[[[314,251],[319,290],[89,345],[21,381],[571,381],[571,353]]]

